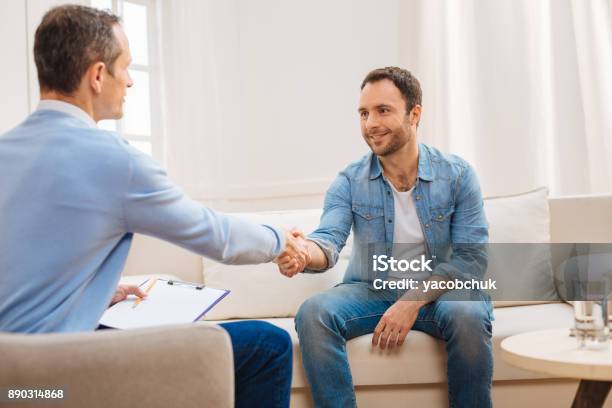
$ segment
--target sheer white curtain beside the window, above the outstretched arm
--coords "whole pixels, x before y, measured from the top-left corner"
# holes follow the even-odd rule
[[[223,166],[217,137],[219,118],[218,64],[212,35],[213,3],[202,0],[159,1],[164,165],[190,195],[219,195]],[[203,192],[206,194],[203,194]]]

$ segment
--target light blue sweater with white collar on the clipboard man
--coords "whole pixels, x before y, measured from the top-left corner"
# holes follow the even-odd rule
[[[95,329],[133,233],[229,264],[268,262],[284,246],[273,227],[189,199],[76,106],[43,101],[0,136],[0,331]]]

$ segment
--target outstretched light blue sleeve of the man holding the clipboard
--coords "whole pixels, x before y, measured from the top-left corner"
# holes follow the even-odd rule
[[[127,231],[151,235],[226,264],[269,262],[284,247],[284,234],[207,208],[187,197],[150,157],[130,157],[123,200]]]

